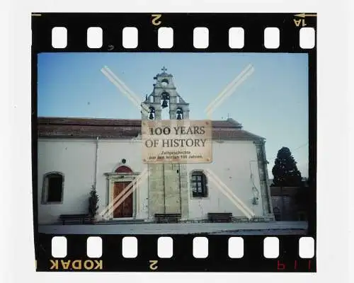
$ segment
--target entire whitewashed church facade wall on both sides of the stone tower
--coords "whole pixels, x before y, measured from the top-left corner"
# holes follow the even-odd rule
[[[108,180],[105,173],[112,173],[122,158],[132,171],[141,173],[141,141],[108,140],[98,141],[98,171],[96,190],[100,197],[99,212],[108,204]],[[256,161],[256,146],[252,141],[213,142],[213,163],[188,164],[188,177],[193,170],[210,169],[239,197],[254,214],[263,215],[261,189]],[[86,213],[91,185],[94,183],[96,139],[39,139],[38,141],[38,216],[39,223],[53,223],[60,214]],[[254,184],[259,190],[259,204],[251,204],[253,197],[251,171]],[[62,204],[41,204],[43,175],[50,171],[64,174]],[[190,190],[189,219],[204,218],[208,212],[232,212],[234,216],[244,214],[208,179],[208,197],[193,198]],[[147,182],[141,184],[137,195],[137,218],[148,217]]]

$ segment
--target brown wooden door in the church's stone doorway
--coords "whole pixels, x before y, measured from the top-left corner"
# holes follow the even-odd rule
[[[114,200],[115,204],[120,202],[122,200],[122,197],[125,197],[125,200],[123,200],[118,207],[116,207],[113,211],[113,218],[122,218],[122,217],[132,217],[133,215],[133,197],[132,197],[132,192],[128,195],[128,191],[132,190],[132,187],[129,190],[126,190],[119,198],[119,200],[116,200],[116,197],[120,195],[120,193],[125,190],[125,188],[130,184],[131,182],[116,182],[114,184]]]

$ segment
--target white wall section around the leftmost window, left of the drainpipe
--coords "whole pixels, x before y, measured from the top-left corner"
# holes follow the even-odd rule
[[[94,180],[95,144],[86,140],[48,139],[38,141],[38,222],[52,223],[60,214],[87,213]],[[64,174],[62,204],[41,204],[43,175]]]

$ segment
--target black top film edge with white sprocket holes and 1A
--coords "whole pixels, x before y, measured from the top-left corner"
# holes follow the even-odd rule
[[[315,27],[314,13],[33,13],[33,50],[314,54]]]

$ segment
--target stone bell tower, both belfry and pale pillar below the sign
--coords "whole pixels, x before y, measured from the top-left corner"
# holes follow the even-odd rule
[[[173,76],[163,67],[154,76],[152,93],[142,102],[142,120],[161,120],[161,111],[169,108],[170,120],[188,120],[189,103],[176,91]],[[188,218],[189,190],[185,164],[149,164],[149,218],[156,213],[177,213]]]

